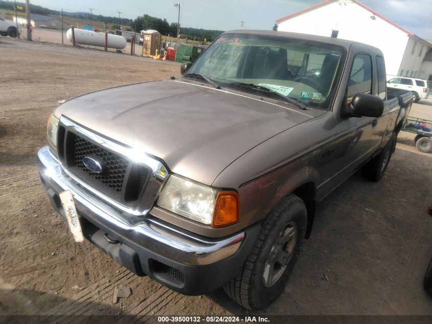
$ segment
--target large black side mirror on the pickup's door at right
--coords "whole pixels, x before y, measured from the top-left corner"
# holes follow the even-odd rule
[[[348,104],[347,117],[381,117],[384,101],[376,96],[358,93]]]

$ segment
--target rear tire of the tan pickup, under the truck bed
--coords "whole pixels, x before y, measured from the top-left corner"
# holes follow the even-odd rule
[[[363,177],[370,181],[379,181],[385,173],[390,159],[393,155],[394,146],[396,144],[396,134],[393,133],[389,142],[385,144],[381,153],[372,158],[361,169]]]

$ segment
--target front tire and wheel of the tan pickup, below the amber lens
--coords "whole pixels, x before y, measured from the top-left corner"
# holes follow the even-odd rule
[[[284,290],[306,233],[307,211],[295,195],[286,197],[265,219],[242,271],[223,287],[248,309],[270,305]]]

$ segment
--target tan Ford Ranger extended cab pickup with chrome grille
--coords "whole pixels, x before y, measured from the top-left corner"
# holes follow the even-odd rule
[[[377,48],[278,31],[226,32],[181,74],[59,105],[38,152],[43,187],[135,274],[265,307],[316,203],[360,168],[382,177],[412,93],[387,93]]]

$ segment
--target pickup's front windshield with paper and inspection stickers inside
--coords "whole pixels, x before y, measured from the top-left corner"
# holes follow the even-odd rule
[[[316,41],[223,34],[187,74],[253,94],[264,87],[307,106],[328,109],[343,53],[338,46]],[[245,83],[260,87],[244,87]]]

